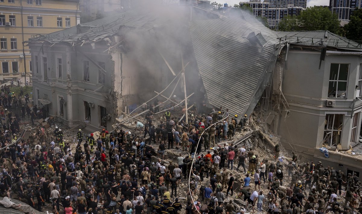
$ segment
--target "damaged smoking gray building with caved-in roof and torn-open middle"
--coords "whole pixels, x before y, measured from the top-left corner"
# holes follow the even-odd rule
[[[161,91],[161,102],[180,101],[185,75],[189,103],[254,112],[300,160],[361,170],[347,152],[359,144],[362,48],[328,31],[272,31],[248,13],[173,5],[112,14],[28,45],[34,104],[71,127],[111,130]]]

